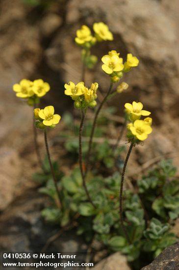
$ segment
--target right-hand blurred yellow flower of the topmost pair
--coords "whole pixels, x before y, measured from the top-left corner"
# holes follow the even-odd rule
[[[98,41],[113,40],[113,34],[109,31],[108,26],[106,26],[104,23],[95,23],[93,25],[93,30],[95,31]]]

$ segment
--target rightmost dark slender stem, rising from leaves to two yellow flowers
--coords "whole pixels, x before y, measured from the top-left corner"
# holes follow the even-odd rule
[[[130,238],[128,236],[128,232],[125,228],[125,225],[124,225],[124,220],[123,220],[123,186],[124,186],[124,177],[125,177],[125,172],[126,172],[126,167],[127,167],[127,164],[128,164],[128,159],[130,157],[130,153],[132,151],[132,148],[134,146],[134,143],[131,142],[130,144],[130,147],[128,149],[128,154],[126,156],[126,160],[124,162],[124,167],[123,167],[123,172],[122,172],[122,175],[121,175],[121,187],[120,187],[120,195],[119,195],[119,201],[120,201],[120,206],[119,206],[119,213],[120,213],[120,220],[121,220],[121,227],[123,229],[123,232],[128,240],[128,243],[131,243],[130,241]]]

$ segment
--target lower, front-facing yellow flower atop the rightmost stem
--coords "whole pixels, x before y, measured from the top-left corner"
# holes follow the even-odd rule
[[[143,120],[135,120],[130,131],[137,139],[145,140],[152,133],[152,128]]]

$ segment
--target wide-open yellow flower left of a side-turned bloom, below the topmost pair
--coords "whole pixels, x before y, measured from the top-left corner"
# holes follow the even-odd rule
[[[123,70],[123,58],[120,58],[118,55],[114,54],[112,56],[106,54],[102,56],[102,70],[107,74],[112,74],[114,71],[118,72]]]

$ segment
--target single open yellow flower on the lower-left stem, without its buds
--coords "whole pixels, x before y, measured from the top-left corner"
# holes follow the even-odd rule
[[[61,116],[59,114],[54,114],[53,106],[47,106],[44,109],[41,109],[39,111],[39,117],[43,119],[43,124],[45,126],[56,125],[61,119]]]

